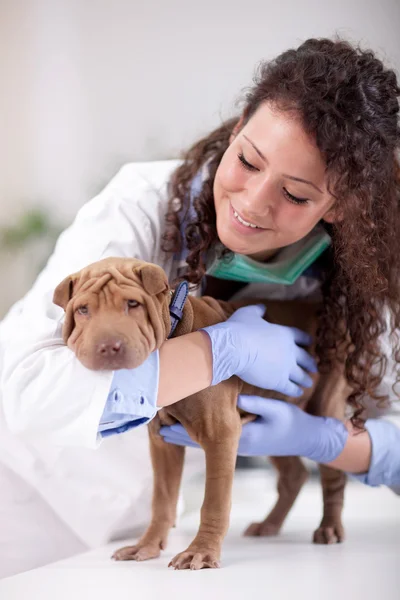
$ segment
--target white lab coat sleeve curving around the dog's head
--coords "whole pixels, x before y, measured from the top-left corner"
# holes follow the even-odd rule
[[[95,448],[101,441],[113,371],[91,371],[77,360],[62,340],[64,311],[52,299],[67,275],[107,256],[154,262],[165,207],[159,190],[150,193],[132,167],[81,208],[32,289],[1,323],[1,400],[15,434],[62,446]]]

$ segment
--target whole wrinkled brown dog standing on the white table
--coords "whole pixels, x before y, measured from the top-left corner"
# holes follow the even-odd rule
[[[129,305],[128,300],[130,301]],[[93,263],[60,283],[54,302],[66,312],[63,338],[81,362],[91,369],[139,366],[167,338],[170,331],[171,291],[160,267],[137,259],[108,258]],[[223,302],[211,297],[188,297],[174,336],[226,320],[237,308],[254,302]],[[268,320],[296,326],[311,334],[316,329],[315,305],[305,302],[265,302]],[[79,307],[82,307],[79,308]],[[287,401],[276,392],[249,386],[237,377],[209,387],[163,408],[149,424],[154,471],[152,521],[135,546],[114,554],[117,560],[146,560],[159,556],[175,523],[185,449],[167,444],[159,435],[163,424],[179,422],[206,456],[206,489],[199,531],[190,546],[171,561],[175,569],[219,566],[228,529],[232,481],[242,420],[236,407],[240,393]],[[342,419],[349,390],[337,367],[329,376],[314,376],[314,386],[300,400],[316,415]],[[296,402],[299,403],[298,400]],[[298,457],[272,458],[278,470],[278,499],[264,521],[253,523],[246,535],[279,532],[307,471]],[[323,518],[314,542],[341,542],[344,474],[320,466]]]

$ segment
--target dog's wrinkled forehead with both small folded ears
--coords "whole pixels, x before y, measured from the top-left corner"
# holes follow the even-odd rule
[[[142,288],[151,296],[168,289],[168,279],[158,265],[135,258],[105,258],[66,277],[56,288],[53,302],[65,309],[69,300],[85,292],[98,294],[110,282]]]

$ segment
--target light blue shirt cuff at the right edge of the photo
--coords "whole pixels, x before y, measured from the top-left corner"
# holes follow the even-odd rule
[[[387,485],[400,493],[400,429],[383,419],[365,423],[372,442],[371,465],[368,473],[352,475],[371,486]]]

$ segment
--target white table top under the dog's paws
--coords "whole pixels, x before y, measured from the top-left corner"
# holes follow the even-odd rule
[[[321,491],[308,482],[277,538],[241,537],[262,518],[275,497],[275,481],[263,471],[235,479],[231,528],[222,567],[173,571],[169,560],[191,541],[198,522],[202,482],[193,487],[190,512],[173,530],[162,557],[144,563],[114,562],[113,543],[0,581],[1,600],[399,600],[400,497],[388,489],[351,483],[346,493],[347,540],[333,546],[310,542],[321,515]]]

